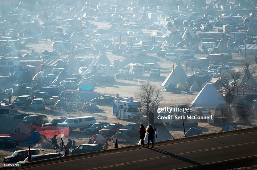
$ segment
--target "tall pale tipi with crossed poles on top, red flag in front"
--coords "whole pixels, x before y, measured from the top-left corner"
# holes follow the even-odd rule
[[[172,83],[172,84],[181,83],[185,87],[187,85],[186,80],[187,80],[187,75],[183,67],[181,66],[180,62],[178,62],[178,64],[174,68],[174,72],[172,70],[169,76],[160,84],[160,86],[165,87],[169,83]]]

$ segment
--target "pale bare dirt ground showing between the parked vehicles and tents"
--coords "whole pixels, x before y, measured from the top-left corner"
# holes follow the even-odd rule
[[[96,23],[100,25],[99,23]],[[103,23],[105,24],[105,23]],[[107,23],[106,23],[107,25]],[[103,26],[103,28],[107,26]],[[215,28],[217,29],[217,28]],[[48,40],[50,42],[50,40]],[[52,46],[50,43],[48,45],[46,44],[45,40],[39,40],[38,44],[29,44],[28,45],[30,49],[34,48],[35,52],[41,52],[44,50],[51,50]],[[123,57],[120,56],[115,56],[111,53],[111,51],[107,51],[106,55],[108,56],[109,60],[113,63],[115,59],[123,59]],[[203,58],[205,57],[206,54],[204,55],[195,55],[195,58]],[[65,57],[65,56],[61,56]],[[93,57],[92,55],[76,55],[76,57]],[[248,56],[249,58],[254,58],[254,56]],[[153,59],[155,62],[157,62],[161,66],[161,76],[158,79],[151,79],[151,83],[158,86],[159,84],[166,79],[166,77],[169,75],[169,73],[172,70],[172,65],[173,63],[170,61],[166,61],[164,58],[156,56],[156,54],[153,53],[148,53],[146,56],[139,57],[135,59],[134,62],[141,62],[144,63],[145,60],[147,59]],[[243,71],[242,66],[241,66],[241,58],[237,54],[233,54],[233,59],[225,62],[224,64],[226,65],[231,65],[233,70],[235,71]],[[255,63],[254,63],[255,64]],[[188,75],[191,75],[191,68],[190,70],[186,70],[185,66],[182,65],[184,70],[187,72]],[[205,69],[205,68],[203,68]],[[254,75],[255,77],[255,75]],[[116,96],[116,94],[120,94],[121,97],[131,97],[135,96],[136,91],[139,90],[140,88],[140,82],[142,81],[149,81],[149,72],[144,73],[144,77],[138,79],[135,78],[133,80],[124,80],[124,79],[116,79],[115,82],[109,84],[109,83],[104,83],[101,85],[96,86],[97,92],[100,94],[109,94]],[[159,87],[161,88],[161,87]],[[197,92],[193,92],[194,94],[192,95],[186,95],[186,94],[172,94],[171,92],[164,92],[165,99],[163,100],[162,104],[168,104],[168,103],[190,103],[198,94]],[[7,95],[0,96],[2,98],[7,99]],[[16,97],[13,97],[13,100]],[[113,115],[112,115],[112,105],[108,104],[102,104],[102,105],[97,105],[100,109],[103,110],[103,112],[95,113],[95,112],[88,112],[88,113],[69,113],[69,112],[51,112],[49,107],[46,107],[45,110],[43,111],[30,111],[28,110],[22,110],[21,112],[26,112],[26,113],[33,113],[33,114],[45,114],[47,115],[49,121],[53,118],[61,117],[61,116],[70,116],[70,117],[78,117],[78,116],[95,116],[97,122],[98,121],[106,121],[109,123],[116,123],[120,122],[123,125],[126,125],[130,122],[137,122],[137,120],[131,120],[128,121],[127,119],[120,119],[117,120]],[[170,105],[167,105],[170,106]],[[212,114],[214,114],[212,112]],[[250,120],[253,125],[256,125],[255,120]],[[172,134],[173,137],[176,138],[182,138],[184,137],[184,132],[183,128],[172,128],[170,125],[165,125],[166,129]],[[243,126],[243,125],[238,125],[237,128],[249,128],[250,126]],[[215,133],[215,132],[220,132],[222,127],[218,126],[211,126],[208,123],[204,122],[198,122],[197,128],[201,129],[203,133]],[[185,131],[187,132],[190,128],[185,128]],[[88,139],[92,135],[87,135],[84,132],[81,132],[79,130],[73,130],[70,136],[68,137],[63,137],[63,140],[65,143],[68,142],[68,139],[70,138],[71,140],[76,141],[76,145],[79,146],[80,144],[86,144],[88,143]],[[48,137],[48,136],[47,136]],[[50,136],[51,138],[52,136]],[[109,136],[108,136],[109,137]],[[130,142],[128,144],[124,144],[122,146],[126,145],[135,145],[139,141],[139,136],[134,136],[130,139]],[[60,143],[60,139],[58,139],[58,143]],[[110,147],[113,147],[114,143],[109,142]],[[20,149],[26,149],[28,148],[28,144],[20,144],[16,148],[6,148],[0,149],[0,160],[3,160],[5,156],[11,155],[14,151],[20,150]],[[41,153],[51,153],[54,152],[54,150],[51,149],[51,143],[49,144],[43,144],[43,145],[31,145],[31,148],[41,148],[44,149],[45,151],[42,151]]]

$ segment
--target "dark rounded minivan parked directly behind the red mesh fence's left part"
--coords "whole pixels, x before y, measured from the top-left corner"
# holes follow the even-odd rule
[[[27,124],[41,126],[42,124],[48,123],[48,118],[46,115],[37,114],[37,115],[26,116],[25,118],[22,119],[22,121]]]

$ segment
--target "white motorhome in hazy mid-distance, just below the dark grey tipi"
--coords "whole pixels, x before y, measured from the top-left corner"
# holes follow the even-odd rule
[[[115,66],[114,65],[91,65],[89,71],[97,70],[97,74],[106,76],[115,76]]]

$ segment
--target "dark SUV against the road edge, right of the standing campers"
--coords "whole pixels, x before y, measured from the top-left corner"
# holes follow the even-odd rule
[[[95,151],[102,151],[103,146],[102,145],[96,145],[96,144],[83,144],[79,145],[76,149],[72,149],[70,154],[80,154],[80,153],[88,153],[88,152],[95,152]]]

